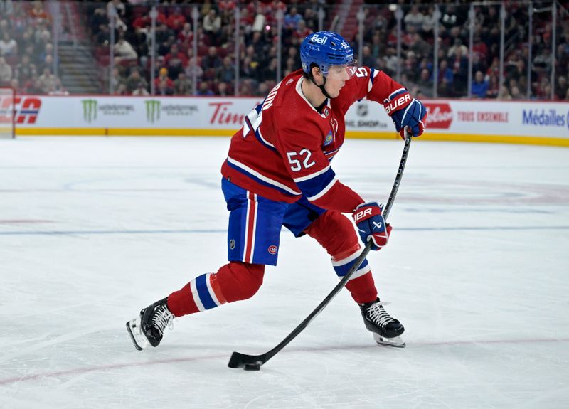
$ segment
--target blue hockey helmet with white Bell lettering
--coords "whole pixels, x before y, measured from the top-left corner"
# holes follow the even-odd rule
[[[310,73],[310,66],[314,63],[323,75],[328,74],[331,65],[349,65],[355,62],[349,43],[332,31],[317,31],[304,38],[300,45],[300,61],[304,73]]]

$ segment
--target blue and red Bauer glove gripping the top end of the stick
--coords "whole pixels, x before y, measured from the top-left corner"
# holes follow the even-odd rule
[[[405,133],[411,132],[418,137],[425,129],[427,110],[420,100],[411,98],[405,88],[393,92],[383,101],[383,107],[395,124],[395,129],[405,139]]]

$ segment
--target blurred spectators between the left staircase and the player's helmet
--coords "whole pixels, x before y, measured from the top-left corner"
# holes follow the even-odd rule
[[[112,90],[117,95],[235,94],[235,7],[240,7],[239,95],[265,95],[277,80],[277,12],[282,11],[282,76],[300,68],[298,48],[318,27],[324,0],[221,0],[198,4],[197,53],[193,50],[193,7],[189,1],[159,4],[156,16],[156,58],[151,75],[151,5],[121,0],[85,6],[97,58],[109,63],[109,18],[117,11],[113,46]],[[326,10],[329,7],[325,7]],[[154,78],[154,87],[151,79]]]

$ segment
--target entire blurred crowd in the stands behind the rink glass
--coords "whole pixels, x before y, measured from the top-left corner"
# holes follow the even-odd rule
[[[568,2],[475,3],[472,50],[471,2],[374,3],[0,0],[0,86],[51,95],[264,96],[300,68],[305,36],[332,29],[351,42],[360,65],[384,70],[414,95],[569,100]]]

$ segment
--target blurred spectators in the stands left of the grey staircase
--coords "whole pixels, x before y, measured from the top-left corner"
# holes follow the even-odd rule
[[[42,1],[0,1],[0,87],[22,93],[65,94]]]

